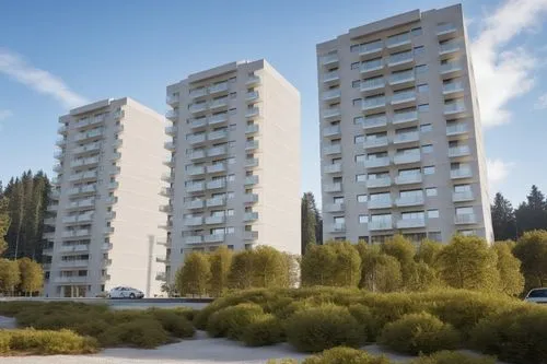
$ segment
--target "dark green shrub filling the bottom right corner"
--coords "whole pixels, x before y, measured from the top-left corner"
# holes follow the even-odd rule
[[[547,309],[528,306],[482,319],[472,331],[472,345],[515,363],[547,363]]]

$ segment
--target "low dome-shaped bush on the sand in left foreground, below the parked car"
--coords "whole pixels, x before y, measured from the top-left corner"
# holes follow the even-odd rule
[[[152,349],[168,343],[170,338],[159,321],[141,318],[112,326],[98,337],[98,341],[104,347],[130,345]]]

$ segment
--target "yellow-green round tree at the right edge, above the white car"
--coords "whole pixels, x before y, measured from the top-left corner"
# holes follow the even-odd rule
[[[524,233],[513,254],[521,260],[526,290],[547,285],[547,231]]]

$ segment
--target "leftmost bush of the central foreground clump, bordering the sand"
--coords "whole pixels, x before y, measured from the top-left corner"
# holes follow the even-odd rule
[[[255,316],[263,314],[263,307],[257,304],[238,304],[222,308],[209,317],[207,333],[212,338],[241,340],[245,327],[253,322]]]

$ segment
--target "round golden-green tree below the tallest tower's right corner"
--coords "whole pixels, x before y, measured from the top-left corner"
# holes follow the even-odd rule
[[[438,255],[439,277],[449,286],[493,291],[499,286],[497,256],[485,239],[456,235]]]

